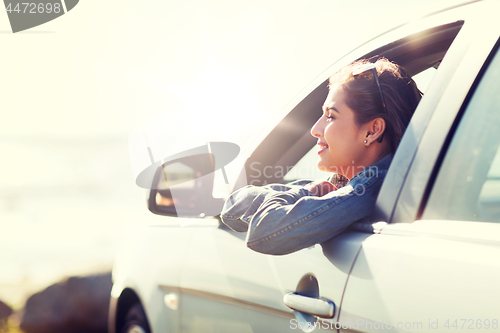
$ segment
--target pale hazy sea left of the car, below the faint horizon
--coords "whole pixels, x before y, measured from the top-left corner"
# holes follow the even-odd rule
[[[135,185],[127,137],[0,138],[0,300],[110,271],[127,228],[158,222]]]

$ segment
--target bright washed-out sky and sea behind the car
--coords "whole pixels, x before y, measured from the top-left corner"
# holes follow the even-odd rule
[[[211,119],[257,128],[333,59],[429,8],[81,0],[16,34],[0,11],[0,300],[22,307],[65,276],[110,271],[134,226],[161,221],[130,166],[142,123],[163,117],[180,138]]]

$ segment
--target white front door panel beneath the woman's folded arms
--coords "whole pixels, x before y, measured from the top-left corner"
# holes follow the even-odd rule
[[[200,228],[193,234],[180,281],[182,332],[201,327],[217,332],[292,331],[294,315],[283,304],[284,295],[314,272],[321,296],[340,304],[351,264],[367,237],[344,234],[339,242],[269,256],[246,248],[241,236],[224,228]],[[343,244],[342,251],[338,244]]]

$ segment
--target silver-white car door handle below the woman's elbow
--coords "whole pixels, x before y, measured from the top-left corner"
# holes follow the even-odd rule
[[[321,318],[333,318],[335,315],[335,304],[324,298],[288,293],[283,297],[283,303],[292,310],[306,312]]]

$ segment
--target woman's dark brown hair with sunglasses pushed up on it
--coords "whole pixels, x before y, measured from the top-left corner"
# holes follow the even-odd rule
[[[403,68],[385,58],[378,59],[375,68],[385,99],[386,113],[373,72],[369,70],[363,75],[353,75],[368,63],[369,60],[362,59],[344,67],[330,77],[328,87],[344,92],[345,103],[354,111],[359,125],[375,118],[384,119],[386,128],[383,140],[388,140],[394,153],[420,102],[422,92]]]

